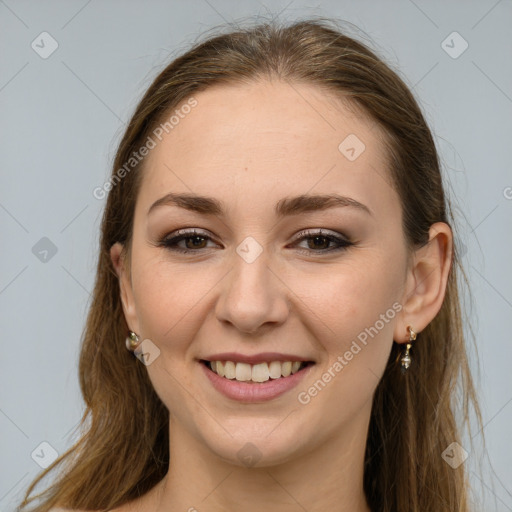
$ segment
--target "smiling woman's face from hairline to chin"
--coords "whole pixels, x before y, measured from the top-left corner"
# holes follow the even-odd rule
[[[381,132],[311,85],[195,100],[152,136],[122,279],[171,429],[238,464],[364,441],[406,335],[407,250]],[[308,364],[283,377],[290,362]]]

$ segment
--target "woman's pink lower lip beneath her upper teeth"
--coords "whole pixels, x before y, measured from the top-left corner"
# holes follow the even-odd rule
[[[288,377],[267,380],[266,382],[239,382],[234,379],[220,377],[204,363],[199,364],[203,367],[203,371],[217,391],[239,402],[264,402],[277,398],[297,386],[313,367],[313,365],[308,365]]]

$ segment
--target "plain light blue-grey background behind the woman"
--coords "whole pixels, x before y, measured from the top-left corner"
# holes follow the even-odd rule
[[[0,510],[12,510],[40,471],[33,450],[46,441],[62,453],[81,416],[79,338],[104,204],[92,191],[124,123],[156,73],[204,30],[269,13],[355,24],[421,100],[459,208],[475,299],[490,461],[471,452],[465,464],[482,509],[512,510],[510,0],[1,0]],[[43,31],[58,43],[46,59],[31,47]],[[469,44],[456,59],[441,46],[453,31]],[[42,237],[57,248],[46,263],[32,252]]]

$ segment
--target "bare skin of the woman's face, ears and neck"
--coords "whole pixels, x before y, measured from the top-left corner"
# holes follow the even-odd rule
[[[407,326],[420,332],[441,307],[450,228],[434,224],[430,243],[408,252],[382,135],[329,93],[265,81],[195,98],[146,162],[131,260],[120,244],[111,250],[128,326],[160,350],[147,371],[170,411],[171,454],[167,476],[116,512],[368,512],[372,396],[393,340],[406,342]],[[349,134],[365,144],[353,161],[338,149]],[[169,192],[214,198],[222,212],[149,212]],[[363,206],[276,215],[285,198],[328,194]],[[174,246],[188,253],[159,245],[194,228],[196,238]],[[329,250],[343,242],[326,234],[350,245]],[[236,251],[247,237],[261,248],[250,263]],[[371,326],[377,334],[348,360]],[[283,395],[243,403],[205,376],[199,359],[218,352],[295,354],[314,365]],[[339,357],[346,364],[336,371]],[[308,392],[329,370],[328,383]],[[257,448],[251,467],[244,446]]]

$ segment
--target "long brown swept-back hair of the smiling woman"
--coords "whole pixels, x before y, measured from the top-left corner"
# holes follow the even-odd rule
[[[56,482],[38,494],[33,509],[54,506],[109,510],[154,487],[169,467],[169,412],[142,364],[126,350],[128,332],[118,276],[110,258],[115,242],[129,261],[133,217],[144,160],[119,179],[116,172],[183,102],[214,85],[277,79],[331,91],[370,118],[384,133],[388,173],[402,205],[403,232],[412,250],[428,242],[429,228],[453,228],[440,162],[430,129],[410,89],[367,45],[332,20],[276,21],[217,33],[173,60],[153,81],[119,144],[102,218],[96,281],[82,335],[80,386],[86,408],[78,441],[42,472],[56,467]],[[364,466],[364,492],[373,511],[467,512],[464,465],[441,457],[469,426],[481,421],[462,328],[459,284],[465,276],[456,250],[439,313],[418,335],[414,363],[404,375],[391,354],[373,397]],[[460,406],[460,411],[456,408]],[[458,417],[460,412],[460,418]],[[460,425],[459,425],[460,424]]]

